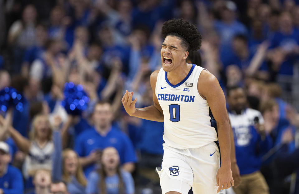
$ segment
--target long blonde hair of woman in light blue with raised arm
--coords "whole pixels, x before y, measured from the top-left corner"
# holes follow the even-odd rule
[[[79,163],[79,157],[78,157],[78,154],[76,152],[74,152],[74,150],[72,149],[65,149],[62,153],[62,159],[63,159],[63,174],[62,174],[62,179],[65,181],[65,182],[70,182],[71,181],[71,176],[70,176],[70,173],[66,171],[66,169],[64,168],[64,161],[67,157],[67,155],[70,153],[70,152],[73,152],[76,154],[76,159],[77,159],[77,170],[76,170],[76,174],[75,174],[75,177],[77,179],[77,181],[82,185],[82,186],[86,186],[87,182],[86,182],[86,178],[84,176],[84,173],[83,173],[83,168],[81,166],[81,164]]]

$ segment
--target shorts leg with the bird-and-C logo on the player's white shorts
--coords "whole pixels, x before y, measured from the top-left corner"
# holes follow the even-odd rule
[[[187,194],[192,186],[193,173],[186,156],[176,149],[164,147],[161,170],[157,170],[163,194]]]

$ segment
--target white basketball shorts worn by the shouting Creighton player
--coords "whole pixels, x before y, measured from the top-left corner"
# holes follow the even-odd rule
[[[220,167],[220,154],[212,142],[196,149],[176,149],[164,144],[160,177],[162,193],[170,191],[187,194],[216,194],[216,174]]]

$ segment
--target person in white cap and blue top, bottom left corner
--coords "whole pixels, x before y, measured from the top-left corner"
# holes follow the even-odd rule
[[[10,166],[9,145],[0,141],[0,194],[21,194],[24,191],[21,172]]]

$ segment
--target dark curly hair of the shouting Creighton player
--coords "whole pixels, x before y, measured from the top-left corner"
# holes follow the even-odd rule
[[[198,50],[202,45],[202,35],[197,27],[183,18],[165,21],[161,33],[163,39],[168,35],[180,38],[187,51]]]

